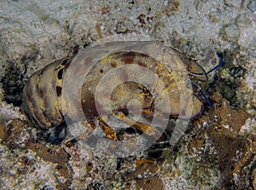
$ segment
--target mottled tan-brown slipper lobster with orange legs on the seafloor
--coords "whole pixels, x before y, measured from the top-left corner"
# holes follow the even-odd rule
[[[43,129],[64,120],[83,120],[86,128],[95,130],[98,125],[108,139],[118,140],[106,118],[111,115],[154,135],[158,130],[129,114],[197,117],[203,103],[191,88],[190,79],[204,81],[207,75],[195,61],[163,43],[107,42],[33,73],[24,88],[26,111]]]

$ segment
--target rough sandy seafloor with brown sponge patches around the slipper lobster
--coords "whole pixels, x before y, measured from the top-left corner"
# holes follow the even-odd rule
[[[27,78],[100,37],[131,32],[206,71],[224,60],[201,83],[213,107],[175,147],[129,158],[46,141],[20,108]],[[0,189],[256,189],[255,1],[2,0],[0,37]]]

